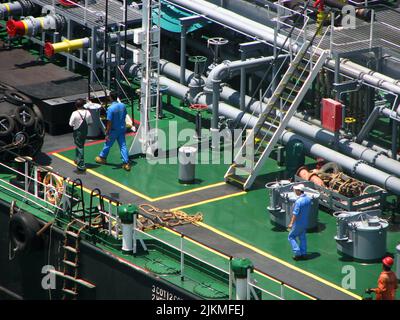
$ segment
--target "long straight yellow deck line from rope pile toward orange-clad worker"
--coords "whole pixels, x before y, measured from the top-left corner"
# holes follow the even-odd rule
[[[267,257],[267,258],[269,258],[271,260],[274,260],[274,261],[276,261],[276,262],[278,262],[280,264],[283,264],[284,266],[286,266],[286,267],[288,267],[290,269],[293,269],[293,270],[295,270],[297,272],[300,272],[300,273],[302,273],[302,274],[304,274],[304,275],[306,275],[306,276],[308,276],[310,278],[313,278],[314,280],[317,280],[317,281],[319,281],[319,282],[321,282],[323,284],[326,284],[327,286],[330,286],[330,287],[332,287],[332,288],[334,288],[334,289],[336,289],[338,291],[341,291],[341,292],[343,292],[343,293],[345,293],[345,294],[347,294],[347,295],[349,295],[349,296],[351,296],[353,298],[356,298],[358,300],[362,300],[361,296],[359,296],[359,295],[357,295],[357,294],[355,294],[353,292],[350,292],[350,291],[348,291],[346,289],[343,289],[342,287],[339,287],[338,285],[336,285],[336,284],[334,284],[334,283],[332,283],[332,282],[330,282],[328,280],[325,280],[323,278],[320,278],[320,277],[318,277],[318,276],[316,276],[316,275],[314,275],[314,274],[312,274],[312,273],[310,273],[308,271],[300,269],[300,268],[298,268],[298,267],[296,267],[296,266],[294,266],[294,265],[292,265],[292,264],[290,264],[290,263],[288,263],[288,262],[286,262],[286,261],[284,261],[282,259],[279,259],[279,258],[277,258],[277,257],[275,257],[275,256],[273,256],[273,255],[271,255],[271,254],[269,254],[267,252],[264,252],[264,251],[262,251],[262,250],[260,250],[260,249],[258,249],[256,247],[254,247],[254,246],[252,246],[252,245],[250,245],[250,244],[248,244],[248,243],[246,243],[244,241],[241,241],[241,240],[239,240],[239,239],[237,239],[235,237],[232,237],[232,236],[226,234],[225,232],[222,232],[222,231],[220,231],[218,229],[215,229],[214,227],[211,227],[211,226],[209,226],[209,225],[207,225],[207,224],[205,224],[203,222],[197,222],[197,224],[199,226],[202,226],[202,227],[208,229],[208,230],[213,231],[214,233],[219,234],[220,236],[222,236],[224,238],[227,238],[227,239],[229,239],[229,240],[231,240],[233,242],[236,242],[237,244],[240,244],[243,247],[246,247],[246,248],[248,248],[250,250],[253,250],[254,252],[257,252],[258,254],[260,254],[260,255],[262,255],[264,257]]]

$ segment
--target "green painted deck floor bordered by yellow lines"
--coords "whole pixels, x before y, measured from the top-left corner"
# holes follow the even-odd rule
[[[179,128],[188,127],[187,120],[177,114],[166,112],[166,115],[167,120],[176,120]],[[168,121],[161,121],[160,128],[167,129],[167,127]],[[190,123],[189,127],[193,127],[193,125]],[[132,139],[132,137],[127,138],[128,145]],[[120,162],[118,146],[114,146],[110,153],[108,161],[111,164],[105,166],[96,165],[93,159],[101,148],[101,143],[86,148],[88,166],[92,170],[149,197],[165,196],[221,182],[227,168],[227,165],[223,164],[198,165],[196,167],[196,178],[199,179],[199,182],[187,186],[181,185],[177,181],[177,164],[149,165],[145,158],[137,158],[134,160],[132,173],[124,172],[117,165]],[[61,152],[60,154],[69,159],[74,157],[73,150]],[[312,159],[307,159],[307,162],[312,163]],[[299,262],[294,262],[291,259],[292,253],[287,241],[288,232],[277,230],[271,225],[266,209],[268,205],[267,191],[263,187],[266,182],[279,180],[284,176],[285,168],[278,167],[276,162],[270,159],[263,173],[257,179],[257,186],[248,193],[224,200],[211,201],[203,205],[189,206],[184,210],[189,214],[202,212],[206,225],[244,242],[250,248],[262,250],[290,265],[301,268],[338,286],[342,286],[342,280],[348,272],[346,272],[346,268],[348,266],[354,267],[356,271],[356,286],[355,288],[349,288],[349,291],[363,296],[365,288],[376,286],[381,265],[380,263],[357,263],[340,257],[336,250],[336,242],[333,239],[336,232],[336,221],[327,212],[320,210],[319,230],[308,234],[308,251],[311,259]],[[156,233],[162,239],[172,243],[178,241],[178,239],[174,240],[174,236],[165,230],[159,230]],[[388,233],[388,251],[390,253],[394,253],[399,239],[398,230],[392,230]],[[196,254],[199,248],[194,246],[190,250],[190,252]],[[207,252],[201,254],[207,261],[211,259],[209,255],[210,253],[207,254]],[[264,277],[262,278],[265,279]]]

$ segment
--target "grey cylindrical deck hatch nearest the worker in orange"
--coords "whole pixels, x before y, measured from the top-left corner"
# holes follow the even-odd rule
[[[389,223],[380,218],[381,210],[338,211],[333,216],[337,219],[335,240],[339,252],[366,261],[385,256]]]

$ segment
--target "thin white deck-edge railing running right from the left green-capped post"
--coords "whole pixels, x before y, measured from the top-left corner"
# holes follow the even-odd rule
[[[169,229],[167,227],[164,227],[164,228]],[[173,232],[177,233],[176,230],[173,230]],[[142,231],[139,228],[135,228],[135,233],[139,233],[139,234],[143,235],[144,237],[148,237],[150,239],[156,240],[157,242],[162,243],[173,250],[176,250],[180,255],[180,276],[181,276],[182,280],[184,280],[184,278],[186,276],[186,273],[185,273],[185,266],[186,266],[185,258],[186,257],[190,257],[194,261],[198,261],[210,268],[213,268],[214,270],[221,272],[225,276],[227,276],[228,277],[228,287],[229,287],[229,289],[228,289],[229,300],[234,300],[234,296],[233,296],[234,274],[232,271],[232,258],[233,258],[232,256],[227,256],[226,254],[224,254],[216,249],[213,249],[213,251],[215,251],[215,253],[214,253],[215,255],[218,255],[219,257],[222,257],[222,258],[228,260],[227,269],[221,268],[220,266],[217,266],[209,261],[206,261],[205,259],[202,259],[202,258],[196,256],[193,253],[193,250],[191,252],[188,252],[188,250],[185,248],[185,240],[190,241],[190,243],[195,244],[199,247],[207,248],[208,246],[204,243],[201,243],[198,240],[192,239],[191,237],[189,237],[187,235],[179,234],[180,235],[179,245],[174,245],[174,244],[171,244],[171,243],[169,243],[157,236],[154,236],[148,232]],[[268,290],[256,285],[254,279],[252,278],[252,276],[250,274],[250,270],[248,270],[248,272],[249,272],[248,277],[247,277],[247,279],[248,279],[248,281],[247,281],[247,298],[248,299],[251,299],[251,298],[256,299],[256,300],[260,299],[259,295],[256,292],[256,290],[258,290],[259,292],[262,292],[274,299],[284,300],[284,290],[285,290],[284,288],[286,286],[286,284],[284,282],[279,281],[279,283],[281,285],[280,292],[279,292],[279,294],[275,294],[271,291],[268,291]],[[268,276],[268,278],[271,278],[271,277]],[[278,282],[278,280],[274,280],[274,281]]]

